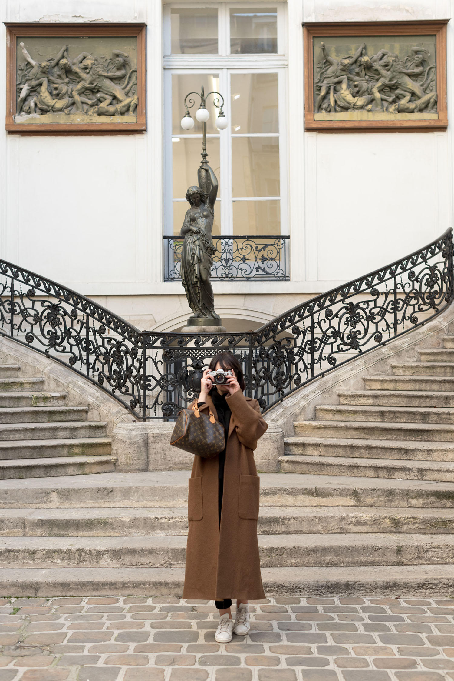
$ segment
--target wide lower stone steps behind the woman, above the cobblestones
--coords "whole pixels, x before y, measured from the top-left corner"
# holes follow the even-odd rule
[[[181,595],[188,475],[0,481],[0,595]],[[453,592],[453,483],[298,473],[260,482],[266,592]]]

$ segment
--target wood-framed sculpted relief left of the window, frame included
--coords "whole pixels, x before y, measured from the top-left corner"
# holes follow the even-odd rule
[[[110,135],[146,130],[145,24],[5,26],[7,132]]]

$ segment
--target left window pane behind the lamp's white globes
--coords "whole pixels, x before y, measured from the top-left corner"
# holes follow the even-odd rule
[[[196,119],[196,110],[200,105],[200,97],[197,97],[196,95],[192,95],[194,99],[194,106],[189,110],[194,120],[194,127],[192,130],[184,130],[180,124],[181,118],[183,118],[184,114],[186,113],[186,109],[184,108],[184,98],[190,92],[200,92],[202,87],[205,90],[205,95],[213,91],[219,92],[219,76],[211,76],[211,74],[173,74],[172,132],[174,134],[202,134],[202,123],[199,123]],[[213,95],[207,99],[207,109],[209,110],[210,114],[209,120],[207,121],[207,133],[217,134],[218,130],[215,123],[219,109],[217,109],[213,104]]]

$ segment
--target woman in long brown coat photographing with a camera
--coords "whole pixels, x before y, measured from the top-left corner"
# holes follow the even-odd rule
[[[233,370],[224,385],[215,385],[209,371]],[[259,479],[253,450],[268,424],[257,400],[243,395],[243,371],[230,352],[211,360],[198,397],[200,413],[210,408],[226,430],[219,456],[194,457],[189,479],[189,533],[183,597],[214,600],[220,614],[218,643],[232,640],[232,631],[249,631],[248,599],[265,597],[260,575],[257,520]],[[191,405],[194,408],[195,402]],[[231,597],[237,598],[232,621]]]

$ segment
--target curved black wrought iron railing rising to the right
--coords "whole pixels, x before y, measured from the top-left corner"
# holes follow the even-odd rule
[[[275,405],[278,394],[282,399],[356,356],[427,323],[453,296],[453,230],[449,228],[422,249],[272,319],[255,332],[253,343],[266,347],[253,370],[262,409]],[[281,362],[281,372],[273,372],[274,379],[269,370],[258,366],[265,359],[268,364]]]

